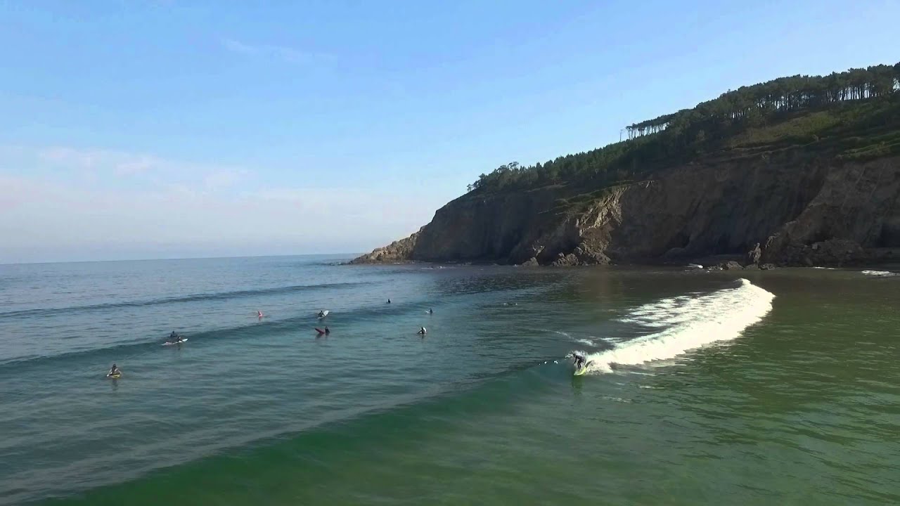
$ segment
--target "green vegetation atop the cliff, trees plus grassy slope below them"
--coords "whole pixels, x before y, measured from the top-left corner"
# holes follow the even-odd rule
[[[742,86],[693,109],[626,127],[629,139],[534,166],[482,174],[473,194],[570,184],[603,187],[703,157],[803,147],[845,159],[900,153],[900,63]]]

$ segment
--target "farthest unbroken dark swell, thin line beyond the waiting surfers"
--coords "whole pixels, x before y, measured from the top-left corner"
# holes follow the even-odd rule
[[[255,290],[234,290],[229,292],[215,292],[212,294],[190,294],[180,297],[163,297],[160,299],[151,299],[148,301],[131,301],[121,303],[102,303],[88,304],[82,306],[69,306],[61,308],[41,308],[29,309],[22,311],[0,312],[0,318],[16,318],[22,316],[49,316],[51,314],[69,313],[69,312],[91,312],[104,311],[109,309],[119,309],[127,307],[146,307],[175,303],[193,303],[198,301],[218,301],[228,299],[238,299],[242,297],[252,297],[255,295],[270,294],[290,294],[293,292],[302,292],[306,290],[321,290],[326,288],[352,288],[360,285],[370,285],[371,282],[354,282],[354,283],[332,283],[322,285],[290,285],[275,286],[272,288],[259,288]]]

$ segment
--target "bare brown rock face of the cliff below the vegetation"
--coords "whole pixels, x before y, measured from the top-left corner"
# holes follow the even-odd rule
[[[707,159],[582,194],[467,194],[408,239],[355,260],[588,265],[741,254],[844,265],[900,248],[900,158]],[[760,250],[753,251],[759,243]]]

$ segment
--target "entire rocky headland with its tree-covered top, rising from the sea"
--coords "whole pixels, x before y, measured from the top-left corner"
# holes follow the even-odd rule
[[[831,102],[815,99],[815,86],[844,86],[834,77],[842,75],[741,88],[629,127],[653,133],[544,165],[502,166],[409,238],[354,263],[897,261],[900,64],[894,69],[894,87],[837,89],[823,95]],[[891,71],[869,68],[872,79]],[[771,91],[781,88],[783,96]]]

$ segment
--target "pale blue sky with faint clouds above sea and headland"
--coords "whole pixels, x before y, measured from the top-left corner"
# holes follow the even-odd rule
[[[0,263],[361,253],[483,172],[900,60],[900,2],[0,0]]]

